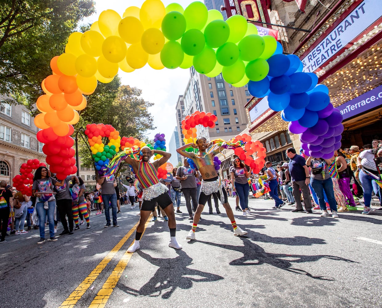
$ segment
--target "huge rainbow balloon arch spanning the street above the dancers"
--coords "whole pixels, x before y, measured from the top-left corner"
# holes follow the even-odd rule
[[[45,94],[36,102],[41,112],[34,120],[41,129],[37,139],[45,144],[52,172],[58,178],[72,174],[73,125],[86,107],[84,95],[94,92],[97,81],[108,83],[119,69],[129,73],[146,64],[156,70],[194,66],[209,77],[222,73],[235,87],[248,83],[253,96],[268,96],[269,107],[281,111],[289,130],[300,134],[304,154],[332,157],[341,145],[342,115],[333,109],[328,88],[317,85],[317,76],[302,72],[296,55],[282,52],[274,37],[259,36],[243,16],[223,21],[219,11],[201,2],[183,9],[146,0],[123,16],[103,11],[89,31],[72,33],[65,53],[52,58],[52,75],[42,81]]]

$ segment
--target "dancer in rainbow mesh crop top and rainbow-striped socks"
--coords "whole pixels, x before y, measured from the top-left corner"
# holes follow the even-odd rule
[[[192,146],[193,148],[199,149],[199,153],[195,154],[193,152],[186,152],[185,149]],[[200,137],[196,140],[196,144],[186,144],[185,146],[180,147],[176,151],[184,156],[189,157],[194,160],[196,167],[199,169],[199,172],[202,175],[202,187],[199,195],[199,205],[197,206],[194,221],[191,231],[188,233],[187,240],[195,240],[195,231],[197,223],[199,222],[200,215],[203,211],[204,205],[207,200],[210,198],[210,195],[216,195],[220,202],[222,202],[225,212],[227,213],[228,218],[231,221],[233,227],[233,235],[246,235],[248,232],[241,230],[240,227],[236,225],[235,217],[230,204],[228,203],[227,192],[225,191],[223,185],[220,183],[219,176],[215,170],[214,166],[214,156],[219,153],[220,146],[214,145],[214,148],[209,154],[206,154],[206,149],[211,146],[211,143],[207,143],[206,138]]]

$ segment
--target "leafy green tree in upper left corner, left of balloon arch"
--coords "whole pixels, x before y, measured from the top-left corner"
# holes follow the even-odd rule
[[[50,60],[95,12],[92,0],[5,0],[0,5],[0,94],[34,110]]]

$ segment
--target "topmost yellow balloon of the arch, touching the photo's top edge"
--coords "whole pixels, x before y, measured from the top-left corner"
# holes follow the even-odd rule
[[[166,8],[160,0],[146,0],[139,11],[139,19],[145,29],[160,28]]]

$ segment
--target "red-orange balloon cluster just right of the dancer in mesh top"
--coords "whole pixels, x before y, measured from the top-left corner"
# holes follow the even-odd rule
[[[259,173],[260,169],[265,164],[264,158],[266,156],[266,149],[264,148],[263,144],[259,140],[252,141],[251,136],[245,133],[242,135],[236,135],[233,139],[233,142],[235,143],[239,140],[245,142],[244,149],[241,147],[236,148],[234,150],[235,155],[237,155],[240,160],[243,160],[244,164],[251,167],[253,173]],[[256,159],[253,159],[253,155],[257,156]]]

